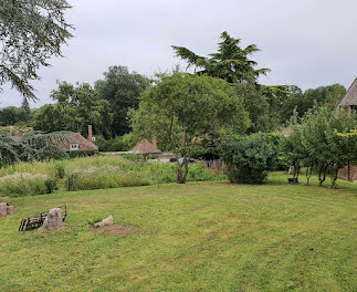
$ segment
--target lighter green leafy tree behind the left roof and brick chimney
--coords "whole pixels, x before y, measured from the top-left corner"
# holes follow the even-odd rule
[[[34,115],[34,129],[44,132],[71,131],[87,133],[87,125],[94,127],[96,134],[111,136],[113,113],[105,100],[99,100],[87,83],[72,85],[59,83],[51,98],[55,104],[48,104]]]

